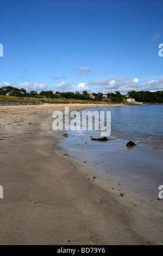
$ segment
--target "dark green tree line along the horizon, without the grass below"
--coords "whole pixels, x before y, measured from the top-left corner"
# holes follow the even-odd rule
[[[83,93],[73,93],[73,92],[53,92],[52,90],[41,91],[40,93],[35,92],[34,90],[27,92],[26,89],[15,88],[12,86],[3,86],[0,88],[0,95],[9,95],[16,97],[35,97],[35,98],[47,98],[47,99],[69,99],[69,100],[92,100],[92,101],[101,101],[105,99],[103,93],[92,93],[90,94],[84,91]],[[134,90],[128,92],[129,97],[133,97],[137,102],[147,102],[147,103],[163,103],[163,91],[149,92],[141,91],[135,92]],[[126,95],[122,95],[120,92],[116,91],[115,93],[106,94],[106,100],[111,102],[123,102],[123,99],[127,99]]]

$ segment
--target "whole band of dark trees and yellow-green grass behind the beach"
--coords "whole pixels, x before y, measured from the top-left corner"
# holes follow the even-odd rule
[[[133,100],[128,102],[128,98]],[[135,92],[134,90],[128,92],[127,95],[122,95],[120,92],[115,93],[88,93],[85,90],[83,93],[73,92],[53,92],[41,91],[40,93],[32,90],[27,92],[26,89],[15,88],[12,86],[3,86],[0,88],[0,102],[30,102],[30,103],[95,103],[102,102],[113,104],[145,104],[145,103],[163,103],[163,90],[157,92],[141,91]]]

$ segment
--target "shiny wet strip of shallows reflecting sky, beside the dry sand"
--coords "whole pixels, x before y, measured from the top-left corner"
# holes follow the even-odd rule
[[[108,190],[109,187],[112,189],[116,186],[117,191],[126,190],[132,194],[139,193],[140,197],[159,206],[156,197],[158,196],[158,187],[162,184],[159,172],[162,169],[162,159],[160,158],[162,154],[158,156],[155,149],[139,144],[136,144],[135,148],[127,149],[127,141],[122,139],[110,139],[108,142],[87,141],[85,143],[85,141],[87,141],[86,138],[78,139],[76,136],[72,138],[72,134],[68,133],[68,138],[62,139],[59,145],[73,159],[78,159],[83,166],[91,167],[94,172],[92,177],[96,177],[96,180],[91,180],[95,183],[97,177],[100,181],[103,180],[102,188]],[[128,164],[128,159],[133,159],[131,166]],[[98,184],[100,183],[98,182]]]

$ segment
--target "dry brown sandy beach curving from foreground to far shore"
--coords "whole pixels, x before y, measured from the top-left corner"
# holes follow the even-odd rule
[[[65,132],[53,131],[52,114],[65,106],[96,107],[0,106],[0,244],[163,245],[162,200],[93,179],[59,147]]]

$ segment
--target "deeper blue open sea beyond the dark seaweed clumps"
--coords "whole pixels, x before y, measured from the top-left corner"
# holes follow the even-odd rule
[[[107,109],[111,111],[111,136],[163,150],[163,105]]]

